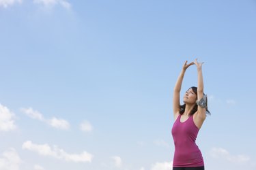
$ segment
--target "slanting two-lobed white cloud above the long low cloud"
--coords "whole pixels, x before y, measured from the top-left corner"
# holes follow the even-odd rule
[[[63,130],[70,129],[70,123],[67,120],[58,119],[55,117],[53,117],[51,119],[46,119],[40,112],[34,110],[31,107],[29,107],[27,109],[22,108],[22,109],[20,109],[20,111],[27,114],[27,116],[29,116],[30,118],[45,122],[46,124],[49,124],[50,126],[52,126],[54,128],[63,129]]]

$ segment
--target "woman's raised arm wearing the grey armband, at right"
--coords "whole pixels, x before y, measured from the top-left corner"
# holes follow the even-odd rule
[[[202,65],[203,63],[198,63],[197,59],[195,59],[195,65],[197,66],[197,100],[200,101],[203,98],[203,72]],[[206,109],[205,107],[201,107],[198,105],[196,119],[199,124],[203,124],[203,121],[206,117]]]

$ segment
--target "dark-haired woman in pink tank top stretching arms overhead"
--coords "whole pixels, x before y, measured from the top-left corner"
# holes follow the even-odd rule
[[[197,87],[189,88],[184,97],[184,104],[180,105],[180,90],[186,69],[191,65],[197,66]],[[195,62],[182,67],[177,78],[173,92],[174,124],[171,131],[175,145],[173,170],[204,170],[203,156],[195,143],[206,113],[210,114],[207,107],[207,97],[203,93],[203,63]]]

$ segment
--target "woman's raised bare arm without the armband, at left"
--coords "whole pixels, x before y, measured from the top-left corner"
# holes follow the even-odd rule
[[[180,90],[182,89],[182,81],[186,72],[186,69],[193,65],[194,62],[187,64],[188,61],[186,61],[182,67],[182,71],[180,72],[179,77],[177,78],[177,82],[174,86],[173,90],[173,116],[174,118],[177,117],[177,115],[180,112]]]

